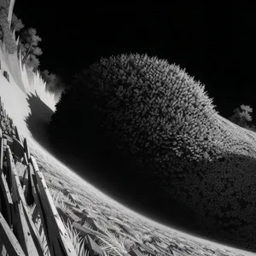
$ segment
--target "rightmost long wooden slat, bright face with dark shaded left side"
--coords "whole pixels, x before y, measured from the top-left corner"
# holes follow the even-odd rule
[[[54,201],[45,183],[44,176],[39,171],[38,164],[32,155],[30,160],[38,184],[38,200],[42,203],[42,207],[40,207],[39,211],[41,218],[44,218],[44,232],[49,238],[49,251],[55,256],[76,255],[73,242],[67,236],[67,230],[65,229],[60,215],[57,212]]]

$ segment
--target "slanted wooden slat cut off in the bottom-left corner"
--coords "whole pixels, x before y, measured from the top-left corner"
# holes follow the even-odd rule
[[[13,231],[9,228],[9,224],[3,218],[0,212],[0,234],[1,240],[3,241],[4,247],[6,248],[9,255],[12,256],[26,256],[20,243],[15,237]]]

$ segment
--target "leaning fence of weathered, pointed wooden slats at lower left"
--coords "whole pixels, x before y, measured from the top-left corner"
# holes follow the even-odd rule
[[[54,201],[17,128],[3,109],[0,98],[0,254],[44,256],[44,246],[34,224],[37,213],[44,228],[50,255],[77,255]],[[26,168],[18,176],[17,162]],[[31,210],[32,204],[36,207]]]

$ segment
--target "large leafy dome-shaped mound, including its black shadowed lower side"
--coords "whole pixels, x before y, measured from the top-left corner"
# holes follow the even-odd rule
[[[192,212],[198,229],[255,249],[255,145],[218,119],[204,85],[180,67],[148,55],[102,58],[62,94],[49,131],[119,189],[151,188],[166,208]]]

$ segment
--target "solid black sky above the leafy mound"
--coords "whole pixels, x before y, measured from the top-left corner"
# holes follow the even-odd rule
[[[241,104],[256,107],[253,6],[74,3],[15,2],[15,14],[42,38],[41,70],[68,81],[101,56],[147,53],[186,68],[224,117]]]

